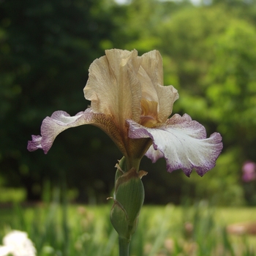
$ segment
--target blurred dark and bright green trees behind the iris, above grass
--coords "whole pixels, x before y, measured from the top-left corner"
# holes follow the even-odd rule
[[[255,26],[255,0],[1,0],[0,203],[43,200],[63,183],[72,202],[106,202],[122,156],[100,129],[68,129],[47,155],[26,146],[53,111],[87,108],[89,65],[105,49],[135,48],[162,54],[165,85],[180,94],[173,113],[188,113],[224,143],[203,178],[144,157],[146,203],[255,206]]]

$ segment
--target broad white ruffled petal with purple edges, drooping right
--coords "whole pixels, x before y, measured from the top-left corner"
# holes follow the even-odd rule
[[[156,161],[165,157],[167,171],[182,169],[189,176],[194,167],[200,176],[215,166],[222,151],[222,137],[214,132],[206,138],[206,129],[190,116],[174,115],[157,128],[147,128],[127,120],[129,138],[151,138],[153,144],[146,156]]]

